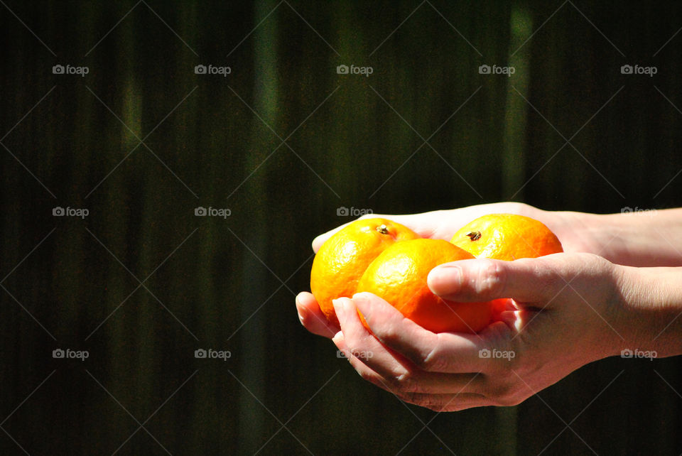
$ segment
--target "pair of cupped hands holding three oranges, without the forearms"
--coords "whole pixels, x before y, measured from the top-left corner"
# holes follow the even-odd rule
[[[590,245],[569,213],[507,202],[371,217],[394,220],[421,237],[449,240],[471,220],[499,212],[543,222],[565,252],[516,261],[470,259],[433,268],[428,286],[443,299],[509,298],[498,320],[478,334],[430,332],[371,293],[334,301],[340,327],[328,322],[312,294],[300,293],[296,307],[301,323],[330,338],[363,379],[435,411],[516,405],[584,364],[619,354],[622,336],[612,325],[622,319],[618,303],[623,271],[599,255],[600,246]],[[313,250],[337,229],[317,237]]]

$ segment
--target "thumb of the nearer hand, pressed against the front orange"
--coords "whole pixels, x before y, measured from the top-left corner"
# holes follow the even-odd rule
[[[445,300],[479,302],[513,298],[517,303],[548,302],[567,281],[545,259],[471,259],[436,266],[428,288]]]

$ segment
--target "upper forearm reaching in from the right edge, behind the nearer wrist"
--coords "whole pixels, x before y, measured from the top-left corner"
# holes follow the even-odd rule
[[[584,214],[558,212],[579,230],[583,251],[625,266],[682,266],[682,208]]]

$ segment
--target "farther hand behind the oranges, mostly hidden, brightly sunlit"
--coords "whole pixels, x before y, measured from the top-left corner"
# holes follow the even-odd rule
[[[445,239],[449,241],[455,232],[465,224],[482,215],[506,212],[509,214],[532,217],[547,225],[559,238],[564,251],[583,251],[600,254],[599,247],[590,241],[581,230],[582,217],[587,215],[578,212],[549,212],[519,202],[498,202],[487,205],[462,207],[453,210],[440,210],[413,215],[378,215],[369,214],[360,218],[384,217],[406,225],[421,237]],[[343,226],[320,234],[313,240],[315,252],[329,237]],[[303,292],[296,297],[296,308],[301,323],[313,334],[334,337],[339,327],[331,325],[320,310],[320,306],[312,294]]]

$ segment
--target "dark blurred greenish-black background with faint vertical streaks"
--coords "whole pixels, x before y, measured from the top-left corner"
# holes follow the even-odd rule
[[[678,2],[0,3],[0,453],[682,452],[678,357],[436,414],[293,301],[340,207],[681,205]]]

